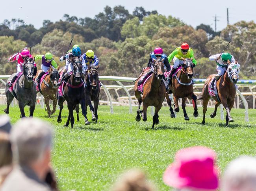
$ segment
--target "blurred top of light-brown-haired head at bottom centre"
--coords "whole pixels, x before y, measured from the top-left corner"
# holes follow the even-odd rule
[[[114,185],[113,191],[153,191],[153,186],[147,182],[145,174],[132,169],[121,176]]]

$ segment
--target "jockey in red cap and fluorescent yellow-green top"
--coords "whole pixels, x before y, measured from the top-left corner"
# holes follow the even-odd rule
[[[197,60],[194,58],[194,52],[191,48],[189,48],[189,45],[187,43],[183,43],[180,47],[177,47],[169,56],[168,60],[171,62],[173,60],[173,67],[171,69],[170,76],[173,75],[174,69],[178,68],[180,65],[184,63],[184,60],[182,58],[193,58],[192,62],[195,65],[197,65]],[[170,77],[170,83],[172,83],[172,77]],[[195,84],[194,80],[192,79],[192,83]]]

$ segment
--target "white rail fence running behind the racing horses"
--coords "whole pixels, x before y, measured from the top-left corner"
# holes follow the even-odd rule
[[[9,75],[2,75],[0,76],[0,81],[3,84],[6,84],[6,82],[4,81],[4,79],[9,78]],[[135,99],[135,96],[130,94],[130,91],[132,91],[133,94],[133,89],[134,89],[134,84],[132,85],[123,85],[121,82],[133,82],[134,80],[136,80],[137,78],[129,78],[129,77],[120,77],[120,76],[99,76],[100,81],[101,81],[101,85],[102,85],[102,89],[106,95],[107,100],[100,100],[100,104],[107,104],[110,106],[110,113],[113,113],[113,105],[119,105],[119,106],[129,106],[129,113],[132,113],[132,106],[137,106],[138,102]],[[116,81],[118,85],[104,85],[103,82],[104,81]],[[202,92],[202,86],[205,82],[205,79],[195,79],[195,85],[194,85],[194,93],[196,95],[198,95],[199,93]],[[238,89],[241,87],[246,87],[249,88],[249,92],[240,92],[237,89],[237,102],[234,104],[235,108],[239,108],[239,100],[241,98],[241,100],[243,101],[243,105],[245,108],[245,121],[248,122],[249,121],[249,115],[248,115],[248,103],[244,98],[245,96],[252,96],[253,97],[253,106],[252,108],[255,108],[255,99],[256,99],[256,92],[253,92],[254,88],[256,88],[256,80],[238,80],[237,82],[238,85]],[[114,90],[115,94],[117,96],[117,101],[115,101],[113,99],[113,96],[111,96],[109,90]],[[127,96],[120,96],[119,95],[119,91],[120,90],[124,90],[124,92],[126,93]],[[240,97],[240,98],[239,98]],[[171,97],[172,98],[172,97]],[[4,89],[0,89],[0,103],[3,104],[3,102],[1,102],[1,99],[4,100],[5,98],[5,93],[4,93]],[[16,100],[17,102],[17,100]],[[44,107],[44,102],[43,102],[43,96],[40,95],[40,93],[38,93],[37,96],[37,103],[41,104],[41,107]],[[209,106],[213,107],[215,104],[215,101],[210,100],[209,102]],[[191,101],[188,100],[188,105],[192,106]],[[201,103],[198,103],[198,106],[200,106]],[[163,102],[163,106],[167,106],[167,102]],[[222,104],[220,105],[221,107],[221,119],[224,119],[224,115],[223,115],[223,106]],[[153,107],[151,107],[151,114],[153,115],[154,113],[154,109]]]

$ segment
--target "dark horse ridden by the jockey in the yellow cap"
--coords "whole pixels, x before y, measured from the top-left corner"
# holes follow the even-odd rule
[[[90,111],[92,113],[92,121],[98,121],[98,104],[99,104],[99,95],[100,95],[100,84],[98,77],[98,69],[99,65],[96,67],[90,67],[89,70],[85,74],[85,93],[86,93],[86,104],[85,110],[87,113],[87,106],[89,105]],[[91,100],[93,100],[93,105],[91,104]]]

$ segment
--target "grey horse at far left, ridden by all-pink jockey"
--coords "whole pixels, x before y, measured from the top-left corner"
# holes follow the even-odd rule
[[[30,116],[33,116],[35,110],[35,103],[37,97],[37,91],[33,81],[33,76],[36,74],[36,67],[34,66],[35,58],[25,58],[25,65],[23,65],[23,74],[17,79],[15,84],[13,83],[13,92],[9,91],[6,84],[6,98],[7,107],[4,109],[6,114],[9,114],[9,106],[15,97],[19,102],[20,117],[26,117],[24,112],[25,106],[30,106]],[[15,74],[12,74],[8,82],[13,78]]]

